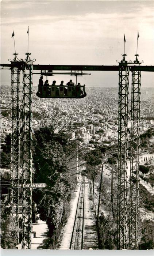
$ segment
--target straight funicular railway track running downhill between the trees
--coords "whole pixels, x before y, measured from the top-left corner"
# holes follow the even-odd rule
[[[70,249],[80,250],[84,246],[84,193],[85,193],[85,176],[82,176],[80,193],[76,209],[76,216],[73,225]]]

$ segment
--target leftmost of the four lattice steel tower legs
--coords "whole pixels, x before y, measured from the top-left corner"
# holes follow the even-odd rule
[[[11,70],[11,184],[19,184],[20,169],[20,69]],[[11,188],[11,213],[19,229],[19,188]],[[19,232],[17,243],[19,242]]]

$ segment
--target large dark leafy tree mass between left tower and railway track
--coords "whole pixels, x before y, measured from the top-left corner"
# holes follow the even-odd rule
[[[34,134],[34,183],[46,183],[47,190],[35,190],[33,200],[38,213],[47,222],[50,237],[54,236],[62,222],[65,202],[74,186],[74,176],[68,169],[71,150],[69,136],[54,133],[53,127],[41,128]],[[53,245],[54,246],[54,242]]]

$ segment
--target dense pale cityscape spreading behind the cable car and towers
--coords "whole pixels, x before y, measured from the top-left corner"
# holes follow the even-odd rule
[[[78,127],[72,136],[80,136],[84,144],[89,141],[102,143],[118,140],[118,88],[86,88],[84,99],[40,99],[33,93],[33,128],[41,124],[41,115],[45,113],[47,125],[58,111],[58,120],[71,127]],[[131,97],[131,95],[130,95]],[[131,98],[130,98],[131,102]],[[11,90],[1,86],[1,142],[11,132]],[[141,90],[140,132],[145,132],[154,124],[154,93],[152,88]],[[38,118],[40,117],[40,118]],[[65,120],[65,121],[64,121]],[[91,146],[91,145],[90,145]]]

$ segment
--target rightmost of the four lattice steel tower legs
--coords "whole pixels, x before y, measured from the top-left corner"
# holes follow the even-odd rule
[[[132,72],[129,249],[138,248],[140,71]]]

